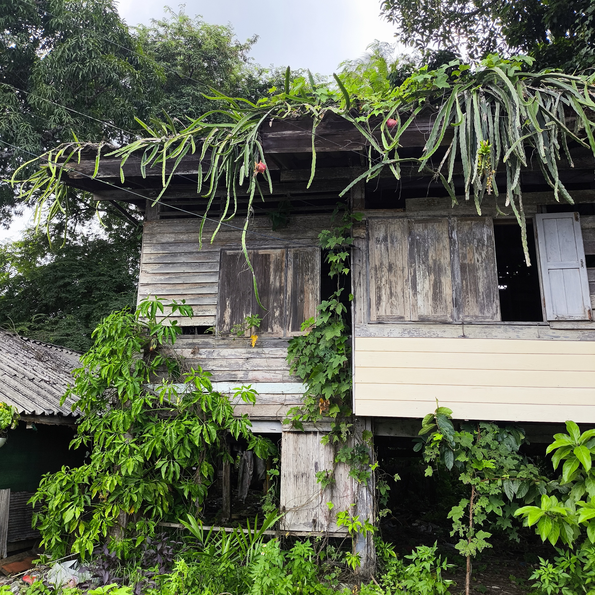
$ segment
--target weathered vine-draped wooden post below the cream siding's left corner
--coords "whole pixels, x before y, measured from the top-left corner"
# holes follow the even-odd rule
[[[362,441],[362,432],[364,430],[372,431],[372,419],[371,418],[355,418],[354,425],[354,438],[356,441]],[[369,449],[370,462],[374,463],[374,449]],[[353,480],[353,493],[355,494],[355,507],[354,516],[359,515],[362,521],[368,519],[369,522],[374,524],[375,521],[375,510],[374,510],[374,491],[375,491],[374,473],[368,480],[368,485],[357,483]],[[376,552],[374,550],[374,538],[371,533],[367,533],[364,537],[363,534],[358,533],[353,538],[353,553],[359,554],[361,559],[361,566],[356,569],[356,574],[362,577],[369,577],[374,574],[376,569]]]

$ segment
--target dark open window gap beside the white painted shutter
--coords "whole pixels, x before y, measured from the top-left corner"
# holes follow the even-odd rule
[[[494,224],[494,242],[502,321],[543,322],[533,225],[527,222],[530,267],[525,263],[518,225]]]

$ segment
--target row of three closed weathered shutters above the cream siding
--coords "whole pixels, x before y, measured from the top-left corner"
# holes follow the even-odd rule
[[[370,218],[367,237],[370,322],[500,320],[490,217]]]

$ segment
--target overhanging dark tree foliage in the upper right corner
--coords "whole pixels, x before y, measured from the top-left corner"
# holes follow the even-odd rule
[[[595,66],[591,0],[381,0],[381,10],[403,43],[425,53],[438,47],[478,60],[524,52],[538,68],[571,73]]]

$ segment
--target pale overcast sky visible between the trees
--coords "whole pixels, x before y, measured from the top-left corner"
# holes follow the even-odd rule
[[[164,0],[120,0],[120,14],[130,26],[161,18]],[[394,43],[394,28],[380,16],[380,0],[187,0],[186,14],[215,24],[231,23],[238,39],[255,33],[252,57],[263,66],[309,68],[332,74],[339,62],[357,58],[378,39]],[[9,230],[0,227],[0,242],[15,240],[32,224],[32,211],[16,217]]]

